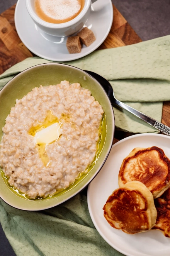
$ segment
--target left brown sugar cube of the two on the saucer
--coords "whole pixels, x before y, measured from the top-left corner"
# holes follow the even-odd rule
[[[80,53],[82,50],[82,44],[80,42],[80,37],[68,37],[66,42],[66,47],[69,53]]]

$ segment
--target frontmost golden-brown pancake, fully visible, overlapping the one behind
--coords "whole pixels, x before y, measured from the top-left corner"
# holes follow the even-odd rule
[[[131,181],[116,189],[107,199],[104,217],[116,229],[128,234],[145,232],[156,222],[153,195],[139,181]]]

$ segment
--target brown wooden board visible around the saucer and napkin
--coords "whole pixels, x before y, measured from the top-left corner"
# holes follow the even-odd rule
[[[98,49],[122,47],[142,40],[113,5],[114,19],[109,35]],[[0,74],[27,57],[35,56],[21,42],[14,23],[15,5],[0,14]],[[97,50],[98,50],[97,49]],[[163,103],[162,123],[170,126],[170,102]],[[114,142],[132,135],[128,132],[115,132]]]

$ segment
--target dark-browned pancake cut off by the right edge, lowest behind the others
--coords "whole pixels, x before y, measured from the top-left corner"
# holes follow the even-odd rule
[[[158,229],[165,237],[170,237],[170,188],[161,197],[155,199],[155,207],[158,216],[153,229]]]

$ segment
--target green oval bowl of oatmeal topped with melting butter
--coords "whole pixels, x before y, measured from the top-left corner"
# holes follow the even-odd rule
[[[109,155],[114,113],[102,86],[59,63],[33,66],[0,91],[0,197],[47,209],[92,181]]]

